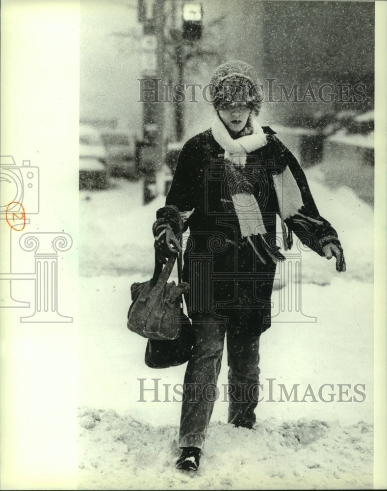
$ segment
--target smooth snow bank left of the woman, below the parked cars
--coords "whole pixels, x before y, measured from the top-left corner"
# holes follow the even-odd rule
[[[152,224],[165,204],[142,205],[142,182],[113,181],[105,191],[79,191],[79,274],[148,273],[155,264]]]

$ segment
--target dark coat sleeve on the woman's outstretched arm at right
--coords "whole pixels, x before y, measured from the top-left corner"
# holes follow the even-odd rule
[[[318,212],[307,178],[297,159],[278,138],[275,137],[275,140],[280,147],[284,165],[289,168],[297,183],[303,202],[299,213],[284,220],[287,227],[296,234],[304,245],[310,247],[320,256],[324,256],[322,248],[329,243],[341,249],[337,232],[329,221],[321,217]]]

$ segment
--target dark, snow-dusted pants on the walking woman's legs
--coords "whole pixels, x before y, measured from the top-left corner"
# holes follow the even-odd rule
[[[206,322],[203,317],[193,321],[192,328],[195,341],[184,377],[179,446],[202,448],[216,400],[229,401],[229,423],[253,427],[258,403],[259,336],[233,335],[237,330],[233,326]],[[217,387],[226,336],[228,384]]]

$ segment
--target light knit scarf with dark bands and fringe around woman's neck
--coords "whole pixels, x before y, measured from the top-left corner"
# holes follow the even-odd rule
[[[211,125],[211,131],[215,140],[225,151],[224,159],[229,192],[238,217],[242,237],[247,237],[248,242],[253,246],[258,258],[263,263],[266,263],[266,261],[263,255],[257,250],[257,247],[254,246],[251,239],[252,236],[258,236],[259,243],[266,252],[266,255],[275,263],[279,259],[283,260],[284,256],[278,252],[278,247],[269,247],[265,240],[266,229],[258,202],[253,194],[254,186],[251,182],[248,182],[243,173],[247,154],[265,146],[267,143],[263,129],[258,124],[257,119],[253,115],[250,115],[245,131],[242,133],[243,136],[233,139],[218,113],[216,113]],[[300,213],[303,206],[301,192],[288,166],[285,167],[282,173],[274,175],[273,181],[284,234],[284,248],[287,250],[287,248],[291,247],[291,234],[286,239],[284,220],[294,217],[294,215],[300,216],[300,219],[307,217]]]

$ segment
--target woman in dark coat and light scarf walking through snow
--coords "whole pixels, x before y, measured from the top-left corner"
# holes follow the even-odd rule
[[[153,226],[155,248],[165,262],[189,227],[183,280],[190,284],[194,332],[184,377],[181,457],[177,468],[197,470],[216,400],[225,336],[228,354],[228,422],[252,428],[258,402],[259,337],[270,327],[276,264],[276,216],[283,246],[292,232],[345,271],[337,233],[322,218],[303,170],[270,127],[257,116],[262,91],[253,67],[233,60],[211,79],[215,109],[211,127],[183,146],[166,206]]]

